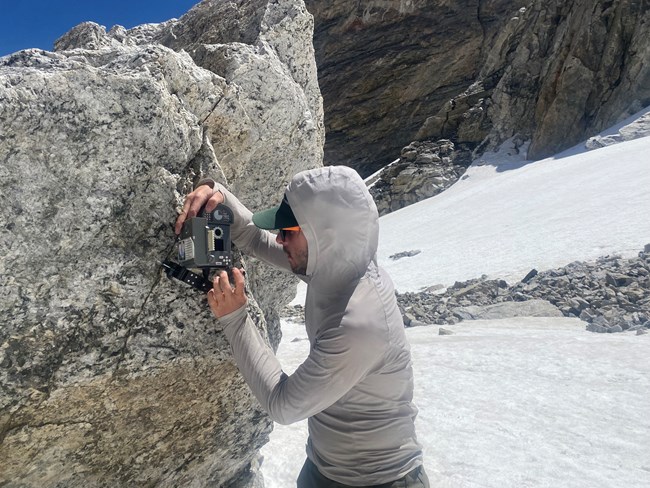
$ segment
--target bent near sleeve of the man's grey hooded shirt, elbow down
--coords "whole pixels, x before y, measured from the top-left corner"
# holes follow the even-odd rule
[[[363,379],[382,356],[382,344],[353,327],[319,335],[309,356],[286,375],[246,312],[219,319],[240,372],[270,417],[291,424],[326,409]]]

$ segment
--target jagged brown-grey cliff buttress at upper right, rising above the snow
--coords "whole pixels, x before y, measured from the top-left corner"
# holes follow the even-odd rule
[[[518,136],[531,141],[528,157],[541,159],[650,105],[649,37],[647,2],[535,1],[522,9],[475,84],[489,94],[473,107],[491,126],[483,147]]]

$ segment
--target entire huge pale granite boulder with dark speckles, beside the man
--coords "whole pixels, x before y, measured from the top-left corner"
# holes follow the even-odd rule
[[[199,7],[197,30],[220,15]],[[157,41],[185,17],[82,24],[55,53],[0,58],[0,485],[260,486],[272,422],[203,294],[159,266],[198,179],[256,209],[321,164],[309,50],[286,61],[302,50],[289,26],[311,17],[301,2],[260,12],[268,38],[223,39],[224,64],[199,66],[215,50],[200,40],[192,56]],[[277,344],[291,287],[252,282],[250,313]]]

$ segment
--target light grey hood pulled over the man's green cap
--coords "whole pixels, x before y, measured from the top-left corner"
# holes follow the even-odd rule
[[[359,174],[346,166],[303,171],[285,195],[309,246],[306,281],[326,293],[356,284],[379,240],[377,207]]]

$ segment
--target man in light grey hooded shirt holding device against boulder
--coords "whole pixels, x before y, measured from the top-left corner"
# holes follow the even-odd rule
[[[253,394],[281,424],[308,418],[307,460],[299,488],[428,487],[412,403],[410,348],[393,284],[377,266],[375,203],[352,169],[297,174],[282,203],[252,214],[209,181],[188,195],[176,223],[206,205],[228,205],[239,249],[307,282],[309,356],[291,375],[281,369],[246,311],[244,277],[214,280],[208,303],[223,325]],[[274,236],[269,230],[279,230]]]

